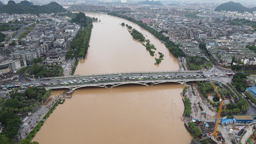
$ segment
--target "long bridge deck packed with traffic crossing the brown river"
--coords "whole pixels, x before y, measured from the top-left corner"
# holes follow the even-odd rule
[[[44,78],[44,79],[26,79],[25,81],[19,79],[16,82],[5,82],[1,83],[1,88],[15,89],[17,87],[22,87],[23,89],[31,86],[44,86],[48,89],[55,88],[69,88],[76,86],[101,86],[106,88],[111,88],[116,85],[140,83],[144,85],[154,85],[160,82],[176,82],[181,83],[187,81],[200,81],[207,80],[211,77],[212,80],[219,83],[230,83],[232,80],[232,75],[234,72],[227,71],[189,71],[189,72],[152,72],[152,73],[117,73],[117,74],[106,74],[106,75],[74,75],[70,77],[54,77],[54,78]],[[149,82],[151,82],[149,84]],[[112,85],[110,85],[112,84]],[[80,85],[80,86],[79,86]]]

